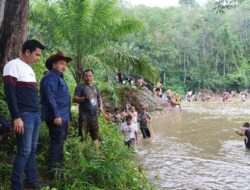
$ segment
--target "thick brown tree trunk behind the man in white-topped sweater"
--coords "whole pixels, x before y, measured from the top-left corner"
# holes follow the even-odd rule
[[[0,9],[0,73],[5,63],[20,55],[27,37],[29,0],[1,0]]]

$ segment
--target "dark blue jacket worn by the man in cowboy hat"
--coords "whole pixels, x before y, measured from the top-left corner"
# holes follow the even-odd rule
[[[41,118],[53,121],[61,117],[62,121],[70,120],[70,93],[63,75],[52,69],[40,82]]]

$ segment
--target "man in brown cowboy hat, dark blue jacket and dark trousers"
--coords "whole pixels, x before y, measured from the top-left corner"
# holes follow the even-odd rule
[[[70,93],[63,74],[72,59],[58,52],[50,56],[45,66],[49,70],[40,83],[41,117],[49,128],[50,145],[48,171],[51,178],[54,171],[64,162],[63,146],[70,120]]]

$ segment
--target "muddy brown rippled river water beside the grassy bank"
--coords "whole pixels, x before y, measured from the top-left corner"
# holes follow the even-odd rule
[[[153,115],[139,159],[157,189],[250,189],[250,151],[234,131],[250,119],[250,100],[191,102]]]

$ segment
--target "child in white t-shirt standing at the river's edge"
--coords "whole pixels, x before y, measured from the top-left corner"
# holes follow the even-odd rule
[[[125,137],[125,145],[133,148],[137,142],[137,126],[132,122],[132,116],[126,117],[126,122],[121,125],[121,131]]]

